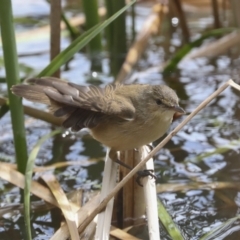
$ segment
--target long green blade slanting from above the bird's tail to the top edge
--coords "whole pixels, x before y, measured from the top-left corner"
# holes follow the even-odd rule
[[[111,22],[113,22],[118,16],[120,16],[135,2],[136,0],[131,1],[129,4],[119,10],[109,19],[105,20],[102,24],[92,27],[87,32],[79,36],[65,50],[63,50],[59,55],[57,55],[51,61],[51,63],[38,74],[38,76],[51,76],[58,68],[60,68],[64,63],[70,60],[75,53],[85,47],[95,36],[97,36],[104,28],[106,28]]]

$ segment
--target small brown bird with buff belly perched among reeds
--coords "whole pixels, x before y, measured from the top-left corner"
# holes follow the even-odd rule
[[[109,156],[118,163],[116,151],[157,140],[168,130],[174,113],[185,113],[176,93],[165,85],[109,84],[100,88],[52,77],[27,82],[30,85],[13,86],[12,92],[49,105],[54,116],[63,118],[65,128],[89,128],[96,140],[111,148]]]

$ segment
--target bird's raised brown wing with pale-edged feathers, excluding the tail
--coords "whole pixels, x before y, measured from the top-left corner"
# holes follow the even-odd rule
[[[115,94],[115,90],[123,85],[109,84],[105,88],[100,88],[67,83],[56,78],[30,79],[28,82],[35,86],[45,86],[44,93],[57,103],[114,115],[126,120],[134,119],[135,108],[131,102]],[[64,108],[57,113],[59,111],[64,111]]]

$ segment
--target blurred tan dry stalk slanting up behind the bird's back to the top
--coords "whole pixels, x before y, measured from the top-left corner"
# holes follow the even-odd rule
[[[159,31],[163,14],[167,12],[167,9],[168,8],[162,4],[156,4],[153,6],[152,14],[147,18],[143,24],[141,32],[130,47],[115,82],[123,82],[132,71],[133,66],[135,66],[144,52],[149,37]]]

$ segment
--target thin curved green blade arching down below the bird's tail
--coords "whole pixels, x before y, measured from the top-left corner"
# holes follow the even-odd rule
[[[30,222],[30,191],[31,191],[31,181],[32,181],[34,161],[37,157],[37,154],[42,144],[48,138],[51,138],[54,135],[59,134],[61,132],[62,132],[61,130],[55,130],[41,137],[36,143],[36,145],[33,147],[28,157],[26,172],[25,172],[25,187],[24,187],[24,219],[25,219],[25,227],[26,227],[26,233],[27,233],[26,235],[28,240],[32,239],[31,222]]]

